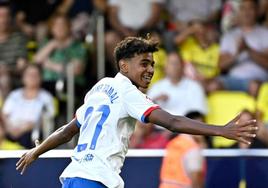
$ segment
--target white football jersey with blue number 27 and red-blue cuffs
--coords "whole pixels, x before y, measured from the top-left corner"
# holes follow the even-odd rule
[[[119,173],[135,119],[146,122],[146,117],[157,108],[121,73],[100,80],[76,111],[80,136],[61,181],[81,177],[99,181],[108,188],[123,188]]]

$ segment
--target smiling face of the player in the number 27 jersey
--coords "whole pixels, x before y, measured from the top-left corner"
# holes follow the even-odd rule
[[[154,74],[153,53],[143,53],[130,58],[126,76],[137,87],[148,88]]]

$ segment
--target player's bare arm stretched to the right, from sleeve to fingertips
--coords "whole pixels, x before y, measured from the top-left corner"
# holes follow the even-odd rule
[[[256,120],[241,122],[240,115],[236,116],[225,126],[215,126],[183,116],[174,116],[164,110],[156,109],[148,116],[148,120],[173,132],[223,136],[245,144],[251,143],[250,140],[256,137],[256,131],[258,130]]]

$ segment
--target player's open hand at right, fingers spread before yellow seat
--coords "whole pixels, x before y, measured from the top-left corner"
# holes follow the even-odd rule
[[[256,137],[258,130],[255,119],[249,121],[240,121],[240,116],[236,116],[232,121],[224,126],[223,137],[237,140],[245,144],[251,144],[251,140]]]

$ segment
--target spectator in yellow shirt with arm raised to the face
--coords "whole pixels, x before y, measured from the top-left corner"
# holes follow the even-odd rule
[[[206,89],[207,82],[219,73],[219,44],[210,36],[213,28],[200,20],[176,36],[186,76],[199,81]]]

